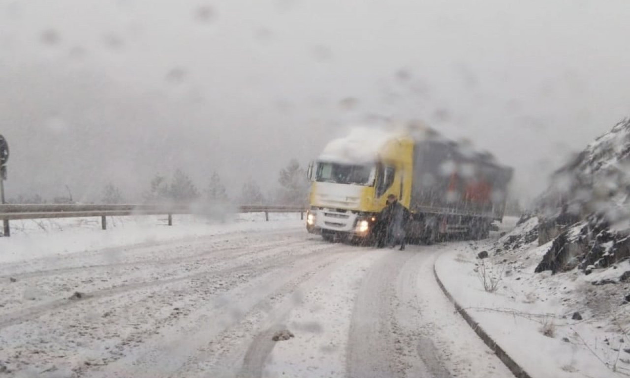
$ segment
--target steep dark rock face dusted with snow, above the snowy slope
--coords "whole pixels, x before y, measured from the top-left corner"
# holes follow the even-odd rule
[[[630,258],[630,119],[597,138],[554,173],[541,197],[541,244],[552,241],[536,272],[589,274]]]

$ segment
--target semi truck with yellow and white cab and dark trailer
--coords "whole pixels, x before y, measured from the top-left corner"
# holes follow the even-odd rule
[[[309,164],[306,229],[324,239],[376,243],[381,211],[395,195],[411,212],[406,237],[435,243],[449,236],[483,239],[505,211],[512,168],[488,152],[406,125],[396,132],[357,129],[330,142]]]

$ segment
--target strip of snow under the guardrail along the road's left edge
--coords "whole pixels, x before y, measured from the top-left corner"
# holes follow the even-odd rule
[[[159,243],[229,232],[270,231],[304,227],[300,214],[237,214],[226,222],[197,215],[175,215],[173,226],[159,215],[108,217],[108,229],[97,218],[12,221],[11,238],[0,238],[0,263],[61,256],[140,243]]]

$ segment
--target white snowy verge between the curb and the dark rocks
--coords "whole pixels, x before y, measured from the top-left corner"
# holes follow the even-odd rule
[[[535,222],[522,224],[501,241],[526,235]],[[495,240],[459,244],[440,256],[435,270],[455,301],[531,377],[626,376],[630,350],[624,349],[630,347],[630,340],[619,336],[620,329],[627,328],[622,319],[616,321],[621,302],[617,309],[598,308],[585,299],[592,282],[602,277],[575,271],[535,274],[536,264],[550,245],[537,247],[531,239],[522,243],[527,246],[518,248],[519,253],[499,250],[496,256]],[[490,258],[478,260],[481,251]],[[622,265],[617,273],[630,268],[627,261]],[[483,268],[486,279],[500,277],[495,292],[484,290],[478,273]],[[602,304],[608,302],[602,299]],[[573,319],[575,312],[580,316]]]

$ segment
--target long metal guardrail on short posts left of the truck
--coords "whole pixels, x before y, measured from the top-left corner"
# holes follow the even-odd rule
[[[299,212],[304,219],[306,209],[300,206],[283,205],[240,205],[223,207],[227,212],[265,213],[265,221],[269,221],[269,213]],[[182,204],[42,204],[42,205],[0,205],[0,220],[15,221],[23,219],[78,218],[101,217],[102,228],[107,229],[107,217],[126,215],[168,215],[168,225],[173,226],[173,215],[176,214],[212,214],[217,207],[212,205]],[[6,234],[4,236],[9,236]]]

